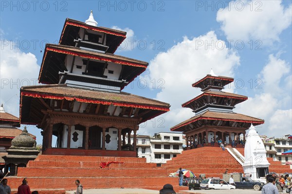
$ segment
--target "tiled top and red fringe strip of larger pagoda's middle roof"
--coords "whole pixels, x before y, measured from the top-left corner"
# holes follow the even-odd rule
[[[137,59],[133,59],[133,58],[129,58],[129,57],[122,56],[122,55],[117,55],[117,54],[112,54],[112,53],[99,53],[99,52],[94,52],[94,51],[89,51],[89,50],[83,50],[83,49],[80,49],[78,47],[73,47],[73,46],[68,46],[68,45],[46,44],[46,49],[48,47],[55,47],[55,48],[60,48],[60,49],[75,49],[75,50],[78,50],[80,52],[93,54],[93,55],[121,57],[122,59],[120,59],[120,60],[123,60],[123,59],[124,60],[133,60],[136,63],[140,63],[140,64],[143,64],[143,65],[146,65],[146,66],[148,66],[148,64],[149,64],[148,62],[137,60]]]

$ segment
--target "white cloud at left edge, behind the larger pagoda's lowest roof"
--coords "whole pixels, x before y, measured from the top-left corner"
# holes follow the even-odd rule
[[[19,93],[22,86],[36,85],[38,83],[39,66],[37,58],[32,53],[23,53],[18,48],[12,47],[12,42],[7,40],[0,50],[0,103],[6,112],[19,117]],[[7,43],[7,44],[6,44]],[[34,128],[28,126],[28,131],[37,135],[37,143],[41,143],[42,136],[36,134]]]

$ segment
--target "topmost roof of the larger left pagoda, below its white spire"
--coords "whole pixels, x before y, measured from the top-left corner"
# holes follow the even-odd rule
[[[92,26],[82,21],[77,21],[74,19],[67,18],[64,23],[59,44],[74,46],[75,45],[74,39],[81,38],[78,35],[80,28],[107,34],[106,46],[109,47],[107,50],[107,53],[114,53],[119,47],[119,45],[124,41],[127,34],[124,31],[110,29],[106,27],[100,27],[100,26],[98,27]]]

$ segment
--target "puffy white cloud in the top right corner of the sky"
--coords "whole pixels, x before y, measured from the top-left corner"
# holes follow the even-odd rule
[[[281,0],[236,0],[217,12],[217,21],[229,40],[279,41],[279,35],[292,22],[292,5]]]

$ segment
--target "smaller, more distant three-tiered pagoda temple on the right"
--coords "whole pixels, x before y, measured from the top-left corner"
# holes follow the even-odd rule
[[[238,103],[247,100],[246,96],[221,91],[224,86],[234,81],[231,77],[217,76],[211,70],[204,78],[192,84],[193,87],[201,88],[199,96],[184,103],[196,113],[196,116],[170,128],[171,131],[182,131],[186,135],[187,147],[189,142],[197,141],[206,145],[211,139],[226,143],[239,142],[239,136],[253,125],[263,124],[264,120],[233,112]]]

